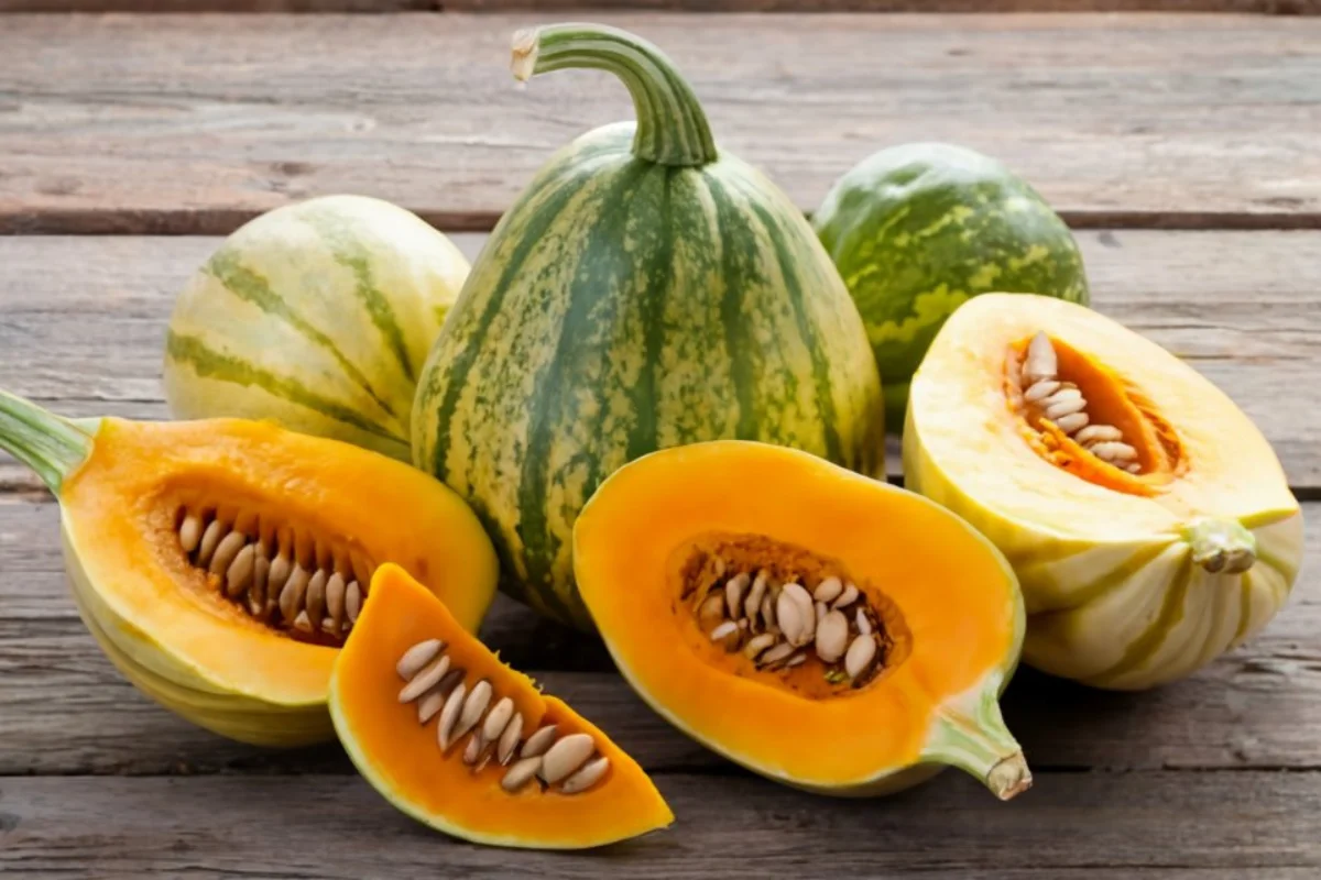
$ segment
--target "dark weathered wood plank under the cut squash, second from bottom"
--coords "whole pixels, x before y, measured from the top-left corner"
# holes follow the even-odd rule
[[[1321,504],[1306,515],[1321,516]],[[0,776],[350,772],[333,747],[272,753],[221,740],[123,682],[65,594],[57,525],[53,504],[0,503]],[[1305,570],[1321,571],[1321,537],[1308,545]],[[1266,633],[1185,682],[1107,694],[1022,670],[1005,716],[1041,768],[1321,769],[1317,632],[1321,579],[1305,577]],[[649,769],[729,769],[605,672],[597,641],[505,599],[482,637]]]

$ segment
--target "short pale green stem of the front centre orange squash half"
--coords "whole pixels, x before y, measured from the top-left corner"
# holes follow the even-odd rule
[[[1022,748],[1000,716],[1000,677],[980,694],[966,694],[937,710],[922,759],[967,770],[1001,801],[1032,788]]]

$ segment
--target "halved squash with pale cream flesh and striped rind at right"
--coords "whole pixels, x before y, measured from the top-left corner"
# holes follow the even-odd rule
[[[1029,664],[1149,687],[1284,604],[1303,520],[1269,445],[1194,369],[1114,321],[978,297],[937,336],[909,400],[908,486],[1011,559]]]

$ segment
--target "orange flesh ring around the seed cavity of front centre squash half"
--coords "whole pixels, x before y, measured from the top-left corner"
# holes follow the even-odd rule
[[[711,534],[836,561],[893,604],[906,652],[832,693],[801,681],[820,677],[812,662],[783,682],[752,672],[695,629],[674,575],[674,555]],[[654,708],[732,760],[831,793],[884,790],[929,760],[941,719],[959,695],[1001,686],[1022,639],[1016,581],[984,538],[914,493],[781,447],[723,441],[634,462],[587,505],[573,553],[602,637]]]

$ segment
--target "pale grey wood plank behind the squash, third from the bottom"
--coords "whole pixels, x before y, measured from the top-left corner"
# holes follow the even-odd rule
[[[472,257],[480,235],[456,236]],[[1321,487],[1321,232],[1086,231],[1098,309],[1189,358]],[[160,359],[207,237],[0,237],[0,388],[62,414],[165,418]],[[1291,402],[1281,404],[1281,389]],[[0,487],[36,479],[0,454]]]

